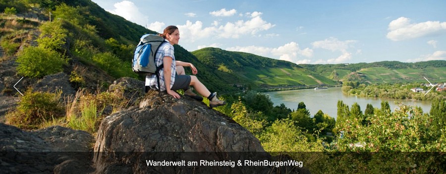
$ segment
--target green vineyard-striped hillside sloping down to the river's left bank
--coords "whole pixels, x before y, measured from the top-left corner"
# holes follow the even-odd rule
[[[204,48],[192,52],[227,84],[251,88],[335,85],[337,82],[283,60],[249,53]]]

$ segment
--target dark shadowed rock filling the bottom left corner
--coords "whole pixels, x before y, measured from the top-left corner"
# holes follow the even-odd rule
[[[91,173],[87,132],[51,126],[32,132],[0,123],[0,171],[5,174]]]

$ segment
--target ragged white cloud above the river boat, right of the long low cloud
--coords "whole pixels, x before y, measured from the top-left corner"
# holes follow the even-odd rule
[[[313,45],[313,48],[322,48],[330,50],[332,52],[341,52],[342,55],[340,55],[339,57],[327,60],[328,63],[341,63],[352,58],[352,54],[348,52],[347,49],[352,48],[351,45],[356,42],[357,41],[355,40],[339,41],[334,37],[330,37],[329,39],[326,39],[324,41],[313,42],[311,43],[311,45]],[[356,53],[361,53],[361,51],[357,50]]]

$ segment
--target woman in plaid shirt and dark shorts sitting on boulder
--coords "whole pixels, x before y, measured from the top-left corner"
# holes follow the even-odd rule
[[[197,68],[192,63],[175,60],[173,45],[178,44],[180,38],[178,28],[176,26],[168,26],[160,36],[167,41],[160,45],[155,57],[157,66],[163,64],[163,67],[160,69],[160,91],[167,91],[167,94],[179,99],[180,95],[175,90],[184,89],[185,96],[202,101],[203,98],[192,92],[193,88],[189,88],[189,86],[193,86],[199,94],[208,97],[211,108],[225,105],[226,102],[217,98],[217,92],[209,92],[208,88],[198,80],[195,76],[198,73]],[[184,66],[189,66],[194,75],[186,75]],[[168,87],[166,87],[166,84],[169,84]],[[158,90],[157,76],[155,74],[146,76],[146,86]]]

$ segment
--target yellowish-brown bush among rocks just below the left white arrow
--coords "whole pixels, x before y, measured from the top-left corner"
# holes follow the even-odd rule
[[[6,122],[20,128],[38,128],[42,123],[64,116],[59,104],[60,92],[32,92],[29,89],[20,97],[17,109],[6,115]]]

